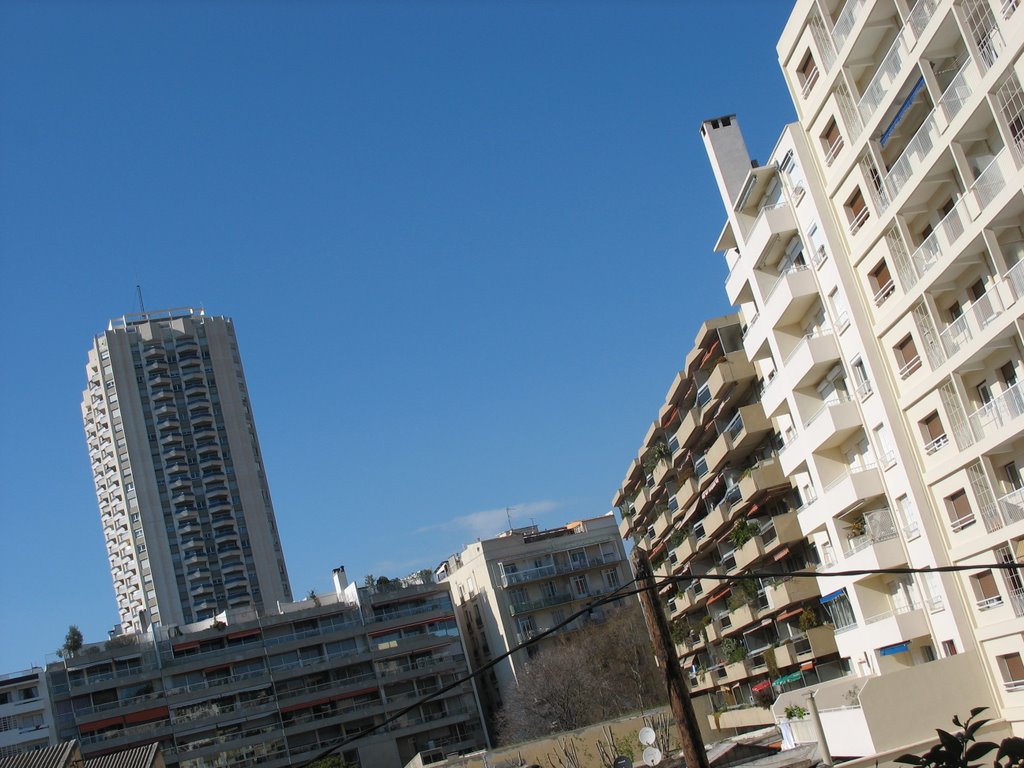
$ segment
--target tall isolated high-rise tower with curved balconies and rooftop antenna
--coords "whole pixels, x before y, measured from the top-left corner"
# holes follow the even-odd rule
[[[291,600],[234,326],[127,314],[93,339],[82,416],[121,626]]]

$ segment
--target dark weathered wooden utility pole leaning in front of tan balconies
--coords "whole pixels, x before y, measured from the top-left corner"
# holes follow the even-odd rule
[[[697,717],[693,712],[693,703],[690,701],[690,692],[686,688],[686,680],[683,678],[683,671],[679,666],[679,655],[676,653],[676,644],[672,641],[672,633],[669,630],[669,620],[665,617],[660,600],[654,589],[654,573],[650,568],[650,561],[647,553],[639,547],[633,549],[633,572],[637,579],[637,588],[640,590],[640,606],[643,608],[643,615],[647,622],[647,630],[650,632],[650,639],[654,645],[654,655],[657,663],[665,671],[665,684],[669,689],[669,706],[672,707],[672,715],[676,719],[676,727],[679,729],[679,738],[683,742],[683,758],[687,768],[710,768],[708,763],[708,751],[705,748],[703,739],[700,738],[700,728],[697,726]]]

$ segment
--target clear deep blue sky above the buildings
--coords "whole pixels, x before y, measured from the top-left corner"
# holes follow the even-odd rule
[[[0,672],[116,618],[112,316],[234,318],[292,586],[602,514],[728,309],[698,128],[767,157],[781,2],[0,7]]]

